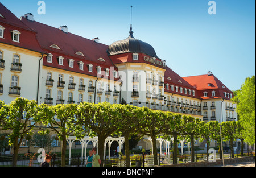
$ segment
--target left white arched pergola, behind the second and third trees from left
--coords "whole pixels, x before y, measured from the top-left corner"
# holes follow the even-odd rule
[[[93,143],[93,147],[96,147],[98,145],[98,137],[89,137],[89,136],[85,136],[84,138],[82,138],[81,140],[77,139],[76,136],[69,136],[67,138],[67,142],[68,142],[68,146],[69,146],[69,165],[70,165],[70,162],[71,162],[71,148],[72,148],[72,144],[73,142],[75,142],[76,140],[80,141],[81,142],[81,146],[82,146],[82,153],[81,153],[81,158],[86,158],[86,149],[87,149],[87,146],[88,146],[88,143],[89,142],[92,142]],[[122,149],[122,145],[123,143],[125,142],[125,138],[124,137],[119,137],[119,138],[113,138],[113,137],[108,137],[106,138],[105,140],[105,143],[104,143],[104,156],[106,156],[106,144],[108,143],[108,146],[109,146],[109,155],[108,155],[108,158],[110,159],[110,147],[111,147],[111,144],[114,142],[114,141],[117,141],[118,144],[119,144],[119,150],[118,152],[121,151]]]

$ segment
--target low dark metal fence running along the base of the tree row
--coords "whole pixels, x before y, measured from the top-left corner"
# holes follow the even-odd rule
[[[245,151],[243,156],[255,156],[255,151]],[[231,158],[230,152],[228,154],[224,154],[225,159]],[[237,150],[234,151],[234,158],[242,157],[241,153]],[[170,155],[158,154],[157,156],[158,162],[157,165],[168,165],[174,164],[174,154]],[[205,161],[209,158],[209,154],[197,154],[195,152],[195,162]],[[220,159],[221,156],[216,154],[216,159]],[[177,156],[177,164],[188,163],[191,162],[191,154],[188,155],[184,153],[183,155]],[[102,160],[104,167],[126,167],[126,156],[115,156],[115,157],[104,157]],[[0,167],[12,167],[13,166],[13,155],[0,155]],[[26,156],[18,156],[17,166],[18,167],[39,167],[40,163],[38,162],[35,155],[26,155]],[[61,167],[61,157],[57,157],[55,155],[52,156],[52,160],[50,162],[51,167]],[[65,166],[68,167],[85,167],[86,159],[81,157],[75,158],[66,158]],[[130,155],[130,167],[152,167],[154,166],[154,156],[153,155]]]

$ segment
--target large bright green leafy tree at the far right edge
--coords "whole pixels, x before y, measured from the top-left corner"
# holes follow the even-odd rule
[[[245,142],[255,144],[255,76],[246,78],[241,88],[234,92],[232,101],[237,104]]]

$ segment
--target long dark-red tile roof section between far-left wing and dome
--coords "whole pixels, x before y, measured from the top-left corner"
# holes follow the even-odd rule
[[[43,60],[43,65],[61,68],[67,71],[79,72],[83,74],[88,74],[90,76],[97,76],[97,66],[102,67],[102,78],[109,78],[105,76],[104,69],[112,67],[118,71],[117,67],[114,67],[112,61],[107,55],[108,45],[102,43],[96,43],[93,40],[83,38],[81,36],[72,34],[70,32],[65,33],[59,28],[51,27],[43,23],[36,21],[27,20],[22,18],[22,22],[30,27],[32,30],[36,31],[36,38],[40,46],[47,52],[53,55],[53,63],[47,63],[46,57]],[[57,45],[60,49],[55,49],[50,47],[51,45]],[[76,52],[82,52],[84,56],[77,55]],[[59,65],[57,57],[64,57],[64,65]],[[100,61],[98,59],[104,59]],[[74,60],[74,68],[70,68],[68,65],[68,60]],[[84,63],[84,71],[79,70],[79,62]],[[88,71],[88,64],[93,65],[93,72]],[[110,77],[112,77],[112,71],[110,71]],[[119,76],[118,76],[119,77]],[[115,78],[118,80],[119,78]]]

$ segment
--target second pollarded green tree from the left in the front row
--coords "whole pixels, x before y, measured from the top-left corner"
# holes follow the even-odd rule
[[[56,105],[48,107],[46,113],[51,113],[51,117],[44,119],[44,125],[47,125],[46,130],[40,131],[40,134],[48,134],[49,131],[54,131],[59,140],[63,142],[61,148],[61,166],[65,167],[65,155],[67,150],[67,138],[76,128],[75,113],[77,104]]]

